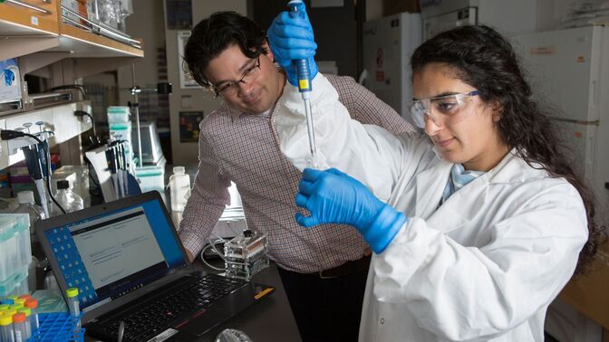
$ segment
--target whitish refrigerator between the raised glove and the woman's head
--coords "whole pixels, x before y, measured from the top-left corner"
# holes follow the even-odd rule
[[[411,120],[411,55],[421,42],[420,14],[400,13],[363,24],[363,71],[360,83]]]

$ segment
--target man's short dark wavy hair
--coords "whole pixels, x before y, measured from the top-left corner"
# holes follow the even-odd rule
[[[190,33],[184,48],[184,62],[188,72],[203,87],[211,87],[203,73],[209,62],[237,44],[248,58],[254,59],[266,54],[262,45],[266,42],[266,32],[254,21],[237,12],[216,12],[198,23]]]

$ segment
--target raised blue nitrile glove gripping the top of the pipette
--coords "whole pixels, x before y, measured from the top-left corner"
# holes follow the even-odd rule
[[[298,5],[298,12],[295,14],[282,12],[277,15],[268,28],[267,35],[275,61],[285,70],[287,81],[297,86],[296,66],[293,60],[308,59],[309,72],[313,80],[317,74],[317,64],[313,58],[317,44],[304,4]]]

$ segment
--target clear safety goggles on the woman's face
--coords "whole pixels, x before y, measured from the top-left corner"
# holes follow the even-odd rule
[[[479,90],[473,90],[462,94],[416,100],[408,104],[408,109],[414,124],[419,128],[425,128],[426,117],[437,126],[449,122],[455,123],[469,116],[471,111],[466,112],[461,109],[465,107],[466,100],[479,94]]]

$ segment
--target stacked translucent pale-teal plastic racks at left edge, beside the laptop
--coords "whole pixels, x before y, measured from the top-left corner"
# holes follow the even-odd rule
[[[28,214],[0,214],[0,297],[28,292],[32,262]]]

